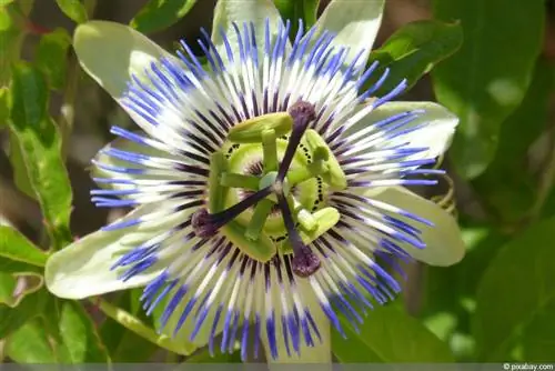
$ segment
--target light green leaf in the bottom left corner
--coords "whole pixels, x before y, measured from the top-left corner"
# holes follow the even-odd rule
[[[24,323],[8,338],[6,353],[17,363],[58,363],[40,317]]]

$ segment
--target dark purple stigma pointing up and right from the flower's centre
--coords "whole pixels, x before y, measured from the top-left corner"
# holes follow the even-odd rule
[[[281,182],[285,178],[287,170],[293,161],[293,156],[296,152],[296,148],[301,143],[304,132],[309,128],[309,123],[316,118],[316,111],[314,104],[297,101],[289,109],[289,114],[293,118],[293,130],[289,138],[287,148],[285,149],[285,154],[280,164],[280,170],[278,171],[278,181]]]

